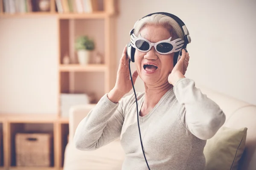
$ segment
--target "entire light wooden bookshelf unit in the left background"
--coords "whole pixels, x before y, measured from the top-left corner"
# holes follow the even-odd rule
[[[8,14],[4,12],[3,0],[0,0],[0,20],[12,19],[12,18],[26,18],[26,17],[55,17],[58,25],[57,32],[57,56],[53,60],[58,60],[58,97],[56,98],[58,105],[58,112],[52,114],[35,113],[35,114],[0,114],[0,124],[3,131],[3,166],[0,166],[0,170],[63,170],[64,161],[64,149],[67,144],[67,135],[69,133],[68,125],[69,119],[67,117],[61,117],[60,113],[60,95],[66,91],[72,93],[76,91],[76,84],[80,82],[80,78],[83,77],[88,84],[85,89],[91,90],[91,86],[99,85],[98,96],[109,92],[113,88],[116,80],[116,57],[113,34],[115,34],[115,26],[113,17],[116,16],[115,0],[103,0],[103,10],[93,11],[91,13],[58,13],[56,11],[55,0],[50,0],[50,11],[48,12],[27,12],[27,13],[15,13]],[[88,24],[84,24],[88,23]],[[93,25],[96,25],[93,28]],[[91,26],[87,28],[87,26]],[[86,27],[86,29],[85,29]],[[86,31],[83,31],[86,30]],[[98,34],[99,33],[99,34]],[[94,36],[96,46],[99,46],[100,51],[103,54],[104,62],[102,64],[88,64],[80,65],[77,62],[64,65],[62,64],[62,58],[67,52],[70,57],[74,57],[76,51],[70,42],[73,42],[76,36],[82,34],[89,34]],[[98,37],[97,37],[98,36]],[[74,77],[76,74],[80,76],[76,83]],[[82,75],[82,76],[81,76]],[[99,77],[100,76],[100,77]],[[89,78],[88,78],[89,77]],[[102,82],[98,82],[98,79]],[[85,85],[86,86],[86,85]],[[81,90],[81,89],[79,89]],[[91,104],[95,105],[95,104]],[[13,161],[14,149],[13,147],[13,134],[19,130],[19,127],[23,125],[38,125],[40,127],[51,126],[53,133],[53,152],[54,152],[54,167],[17,167]],[[16,131],[15,131],[16,130]],[[21,132],[23,129],[20,129]],[[26,130],[24,130],[26,132]]]

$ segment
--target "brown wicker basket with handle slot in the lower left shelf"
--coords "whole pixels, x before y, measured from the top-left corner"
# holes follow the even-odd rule
[[[52,166],[52,134],[17,133],[15,136],[16,166]]]

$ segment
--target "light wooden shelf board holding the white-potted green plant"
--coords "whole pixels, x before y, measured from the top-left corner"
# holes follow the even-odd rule
[[[96,65],[96,64],[90,64],[90,65],[79,65],[79,64],[70,64],[70,65],[60,65],[59,70],[61,72],[67,72],[67,71],[88,71],[88,72],[103,72],[107,69],[107,66],[104,64]]]

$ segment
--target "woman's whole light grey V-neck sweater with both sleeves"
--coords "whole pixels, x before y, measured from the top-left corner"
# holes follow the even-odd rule
[[[139,111],[144,93],[137,93]],[[139,117],[145,156],[151,170],[204,170],[204,146],[225,122],[225,114],[195,87],[177,81],[155,107]],[[134,94],[111,102],[105,94],[76,129],[80,150],[95,150],[120,138],[125,151],[122,170],[147,170],[140,145]]]

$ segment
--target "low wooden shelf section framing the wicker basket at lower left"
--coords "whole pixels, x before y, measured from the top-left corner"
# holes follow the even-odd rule
[[[3,131],[3,166],[0,170],[61,170],[63,169],[64,149],[67,145],[68,125],[69,119],[58,116],[45,116],[44,114],[0,114],[0,125]],[[4,118],[4,119],[3,119]],[[27,133],[24,131],[24,126],[38,126],[45,125],[45,127],[52,126],[53,133],[53,152],[54,152],[54,167],[17,167],[14,164],[14,134]],[[31,128],[31,127],[30,127]],[[35,131],[38,131],[36,129]],[[38,131],[44,133],[46,131]]]

